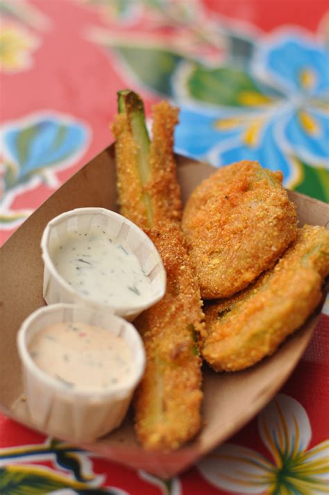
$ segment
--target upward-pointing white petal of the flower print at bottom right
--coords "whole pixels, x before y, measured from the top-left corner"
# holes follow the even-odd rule
[[[278,467],[282,465],[282,457],[296,457],[305,451],[312,435],[303,406],[284,394],[278,394],[260,413],[258,428]]]

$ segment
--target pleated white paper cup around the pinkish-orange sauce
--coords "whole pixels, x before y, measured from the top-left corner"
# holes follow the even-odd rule
[[[95,391],[67,387],[35,364],[28,345],[33,336],[52,324],[97,326],[124,339],[133,359],[133,376],[124,385]],[[17,334],[24,375],[24,392],[33,425],[71,442],[92,442],[117,428],[124,419],[145,367],[142,339],[135,327],[115,314],[71,304],[44,306],[30,314]]]

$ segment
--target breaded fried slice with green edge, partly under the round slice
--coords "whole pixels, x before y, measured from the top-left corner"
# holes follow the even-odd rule
[[[328,274],[329,232],[305,225],[273,269],[205,308],[203,358],[216,371],[237,371],[271,355],[317,307]]]

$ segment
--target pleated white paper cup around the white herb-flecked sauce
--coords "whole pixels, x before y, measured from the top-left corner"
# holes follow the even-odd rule
[[[117,303],[103,303],[79,294],[69,285],[55,267],[53,252],[59,244],[65,243],[69,233],[81,230],[85,232],[101,227],[115,242],[120,238],[137,256],[144,274],[151,284],[151,295],[143,296],[141,301],[127,304],[124,299]],[[166,272],[160,254],[151,239],[132,221],[119,213],[105,208],[77,208],[53,218],[44,229],[41,240],[42,259],[44,261],[43,296],[48,304],[74,303],[90,308],[114,312],[132,321],[142,311],[150,308],[162,299],[166,290]]]

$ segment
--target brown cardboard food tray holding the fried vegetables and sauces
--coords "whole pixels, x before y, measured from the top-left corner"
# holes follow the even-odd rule
[[[178,180],[185,200],[196,184],[212,174],[214,169],[189,158],[177,158]],[[300,226],[304,223],[325,225],[328,222],[329,205],[296,192],[289,192],[289,197],[297,206]],[[22,400],[22,372],[16,349],[16,333],[28,314],[44,305],[40,253],[44,227],[51,218],[62,212],[86,206],[116,210],[113,146],[96,156],[62,185],[10,237],[0,253],[0,409],[31,428],[33,424],[26,403]],[[204,366],[204,425],[194,441],[178,451],[143,451],[135,439],[131,412],[115,432],[83,447],[164,478],[183,471],[242,428],[271,400],[303,355],[320,310],[318,308],[303,328],[287,339],[271,358],[251,369],[216,374]],[[51,431],[44,433],[51,435]]]

